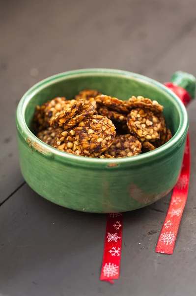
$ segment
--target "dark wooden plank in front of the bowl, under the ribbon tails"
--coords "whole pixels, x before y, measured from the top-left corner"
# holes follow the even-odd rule
[[[195,173],[172,256],[155,253],[170,196],[124,214],[114,287],[99,280],[106,216],[61,208],[24,185],[0,208],[0,294],[195,296]]]

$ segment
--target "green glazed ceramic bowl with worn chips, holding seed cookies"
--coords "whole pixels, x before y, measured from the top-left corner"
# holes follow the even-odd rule
[[[52,148],[33,134],[36,105],[57,96],[72,99],[85,88],[127,100],[132,95],[157,100],[173,138],[154,151],[134,157],[98,159]],[[139,209],[165,196],[180,173],[188,130],[180,99],[163,84],[125,71],[86,69],[49,77],[21,99],[16,125],[20,166],[28,185],[44,198],[66,208],[112,213]]]

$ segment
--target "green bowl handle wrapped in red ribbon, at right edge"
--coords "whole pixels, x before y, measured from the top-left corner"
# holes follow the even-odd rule
[[[192,74],[177,71],[175,72],[170,82],[164,83],[172,90],[186,106],[196,94],[196,77]]]

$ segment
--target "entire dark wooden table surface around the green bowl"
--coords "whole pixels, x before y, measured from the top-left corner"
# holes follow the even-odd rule
[[[195,0],[1,0],[0,295],[195,296],[196,101],[188,107],[192,168],[172,256],[155,253],[170,195],[124,215],[120,279],[100,282],[105,215],[56,206],[24,182],[14,113],[49,75],[116,68],[161,82],[196,75]],[[150,233],[150,234],[149,234]]]

